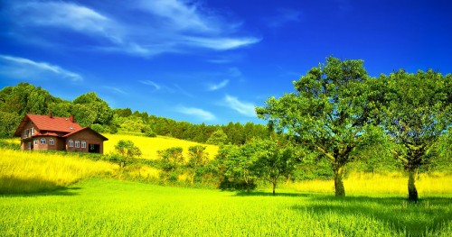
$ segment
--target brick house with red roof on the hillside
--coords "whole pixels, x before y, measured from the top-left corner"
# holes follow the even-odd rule
[[[52,114],[26,114],[14,132],[21,137],[22,150],[67,150],[103,153],[108,139],[89,127],[82,128],[69,118]]]

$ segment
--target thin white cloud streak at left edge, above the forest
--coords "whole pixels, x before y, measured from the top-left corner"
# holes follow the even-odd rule
[[[8,77],[60,77],[61,79],[70,79],[73,82],[83,80],[80,74],[47,62],[37,62],[8,55],[0,55],[0,61],[3,61],[2,66],[0,66],[0,74]]]

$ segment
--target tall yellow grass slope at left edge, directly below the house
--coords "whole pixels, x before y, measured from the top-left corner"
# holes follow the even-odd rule
[[[118,166],[76,154],[0,149],[0,193],[67,187],[81,178],[113,173]]]

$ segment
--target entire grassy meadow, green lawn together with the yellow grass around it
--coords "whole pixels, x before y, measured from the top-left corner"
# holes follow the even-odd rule
[[[164,150],[163,141],[192,144],[108,138],[106,150],[129,139],[147,154]],[[281,184],[277,196],[127,181],[118,164],[71,152],[0,149],[0,170],[0,236],[452,236],[452,177],[445,173],[420,175],[414,204],[401,173],[349,174],[347,196],[336,198],[332,180]],[[129,177],[158,172],[127,168]]]

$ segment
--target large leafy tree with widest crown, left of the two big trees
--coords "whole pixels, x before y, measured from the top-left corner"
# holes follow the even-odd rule
[[[345,196],[345,165],[354,151],[365,147],[364,134],[372,131],[372,117],[378,112],[373,101],[381,94],[371,80],[362,60],[330,57],[294,82],[297,92],[272,96],[256,108],[259,118],[331,162],[335,196]]]

